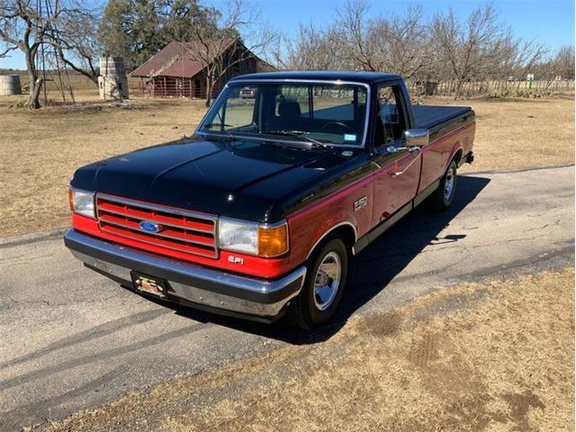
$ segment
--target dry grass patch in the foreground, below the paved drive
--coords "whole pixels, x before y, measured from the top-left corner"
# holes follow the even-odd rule
[[[42,431],[573,430],[574,273],[467,284]]]

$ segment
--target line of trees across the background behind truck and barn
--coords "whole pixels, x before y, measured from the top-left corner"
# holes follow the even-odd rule
[[[71,92],[68,76],[97,84],[99,57],[122,57],[132,70],[172,40],[205,47],[186,56],[204,65],[207,88],[234,67],[221,49],[214,52],[223,44],[211,41],[230,38],[278,69],[392,72],[421,94],[509,94],[521,88],[509,83],[529,77],[544,88],[574,79],[573,46],[552,51],[518,37],[493,4],[463,19],[452,10],[427,15],[416,5],[389,14],[374,11],[365,0],[347,0],[328,24],[302,23],[288,37],[250,1],[228,0],[217,9],[209,0],[108,0],[104,8],[77,0],[0,0],[0,58],[15,49],[23,53],[32,108],[40,106],[44,80],[58,70],[66,73],[58,75],[62,92]]]

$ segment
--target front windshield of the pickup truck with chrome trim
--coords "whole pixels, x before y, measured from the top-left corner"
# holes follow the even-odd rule
[[[198,131],[360,146],[366,98],[364,85],[230,83]]]

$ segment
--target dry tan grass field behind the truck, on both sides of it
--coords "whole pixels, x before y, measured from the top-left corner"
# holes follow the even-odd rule
[[[204,112],[202,101],[136,99],[130,109],[96,105],[94,92],[76,92],[76,100],[87,103],[82,109],[28,112],[14,107],[21,100],[0,96],[0,238],[66,227],[67,184],[76,167],[178,139],[193,131]],[[574,162],[572,96],[465,104],[476,111],[478,127],[476,160],[463,171]]]

